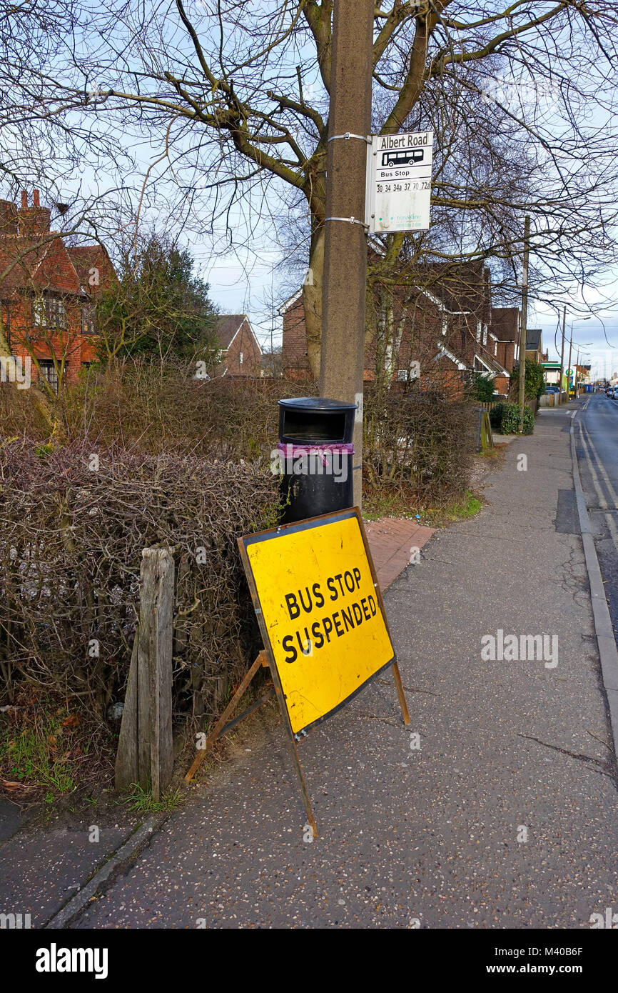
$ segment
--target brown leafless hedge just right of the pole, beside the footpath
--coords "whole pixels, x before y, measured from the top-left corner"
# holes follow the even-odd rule
[[[363,470],[385,494],[402,491],[416,506],[459,497],[469,486],[475,414],[438,391],[369,387],[365,391]]]

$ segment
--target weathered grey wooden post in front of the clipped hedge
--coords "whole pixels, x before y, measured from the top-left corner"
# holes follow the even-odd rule
[[[122,713],[116,788],[139,782],[156,800],[172,779],[172,651],[174,558],[145,548],[140,573],[140,620]]]

